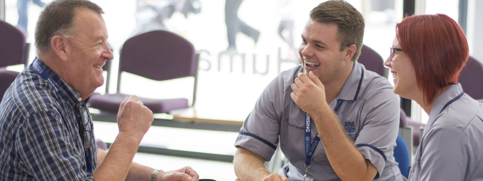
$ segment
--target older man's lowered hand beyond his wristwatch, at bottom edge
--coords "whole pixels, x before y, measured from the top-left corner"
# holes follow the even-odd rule
[[[157,176],[158,181],[198,181],[199,175],[191,167],[183,167],[181,169],[160,172]]]

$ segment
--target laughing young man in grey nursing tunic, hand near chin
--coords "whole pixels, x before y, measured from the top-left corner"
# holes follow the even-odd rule
[[[362,15],[345,1],[311,11],[302,64],[267,86],[235,142],[241,181],[403,180],[392,156],[399,99],[357,63],[363,36]],[[271,174],[263,164],[279,143],[289,162]]]

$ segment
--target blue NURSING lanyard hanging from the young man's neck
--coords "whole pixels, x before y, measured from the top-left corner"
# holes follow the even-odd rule
[[[341,106],[342,99],[337,99],[337,105],[334,107],[334,112],[337,112],[339,107]],[[312,144],[310,143],[310,140],[312,139],[311,135],[311,127],[312,127],[312,122],[311,122],[311,117],[308,113],[305,113],[305,175],[303,176],[303,180],[305,181],[306,178],[308,178],[310,181],[310,175],[309,175],[309,168],[310,168],[310,158],[312,158],[313,152],[315,151],[315,148],[317,147],[317,144],[320,141],[319,134],[315,136],[315,138],[312,141]]]

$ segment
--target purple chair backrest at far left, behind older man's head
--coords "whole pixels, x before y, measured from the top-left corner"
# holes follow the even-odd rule
[[[4,21],[0,21],[0,32],[0,67],[26,65],[28,44],[25,34]]]

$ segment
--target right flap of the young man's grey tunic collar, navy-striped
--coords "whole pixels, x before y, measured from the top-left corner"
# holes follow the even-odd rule
[[[338,99],[343,100],[357,100],[359,92],[363,91],[362,78],[364,77],[365,68],[360,66],[357,61],[354,62],[351,74],[342,86]]]

